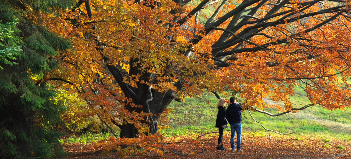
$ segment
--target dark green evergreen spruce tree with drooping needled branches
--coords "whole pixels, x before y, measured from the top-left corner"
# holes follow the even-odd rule
[[[58,132],[60,105],[55,92],[35,78],[55,67],[51,56],[69,41],[35,25],[28,13],[53,13],[68,0],[0,1],[0,158],[54,158],[63,154]]]

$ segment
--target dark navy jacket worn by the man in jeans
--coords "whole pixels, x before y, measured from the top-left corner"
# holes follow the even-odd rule
[[[227,111],[225,112],[227,120],[229,124],[237,124],[240,123],[243,117],[241,117],[241,105],[238,105],[237,103],[231,103]]]

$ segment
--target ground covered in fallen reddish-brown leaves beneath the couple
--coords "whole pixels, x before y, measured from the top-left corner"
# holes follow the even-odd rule
[[[192,138],[197,137],[193,135]],[[166,152],[162,155],[131,154],[127,159],[351,159],[351,141],[325,139],[319,137],[296,137],[293,135],[255,135],[244,133],[241,137],[243,153],[230,151],[230,133],[224,134],[224,147],[227,151],[217,151],[217,133],[208,134],[198,139],[197,145],[189,140],[190,136],[168,137],[165,142],[179,150],[182,156]],[[101,154],[97,149],[91,150],[88,144],[64,144],[69,152],[67,159],[119,159],[119,154],[110,152]],[[178,152],[177,150],[174,150]],[[190,152],[196,152],[190,155]]]

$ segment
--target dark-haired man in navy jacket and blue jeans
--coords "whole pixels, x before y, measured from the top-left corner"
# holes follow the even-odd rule
[[[243,108],[241,108],[241,105],[237,104],[237,98],[231,97],[229,100],[230,100],[230,104],[225,113],[226,113],[227,120],[230,124],[230,130],[232,132],[230,137],[230,145],[231,145],[232,151],[234,151],[235,150],[234,135],[235,135],[235,132],[237,132],[237,152],[244,152],[243,150],[240,149],[241,120],[243,119],[243,117],[241,117],[241,111],[243,110]]]

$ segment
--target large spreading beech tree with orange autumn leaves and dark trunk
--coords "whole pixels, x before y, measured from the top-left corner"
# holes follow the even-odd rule
[[[76,2],[43,20],[74,41],[46,80],[79,92],[120,137],[155,134],[170,102],[204,89],[236,92],[272,116],[350,105],[349,0]],[[290,102],[295,87],[310,104]]]

